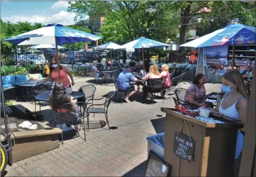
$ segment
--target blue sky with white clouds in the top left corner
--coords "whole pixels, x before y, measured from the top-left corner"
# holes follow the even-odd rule
[[[67,11],[68,1],[1,1],[3,21],[42,24],[74,24],[75,13]]]

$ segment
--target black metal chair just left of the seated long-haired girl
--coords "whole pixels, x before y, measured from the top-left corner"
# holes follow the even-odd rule
[[[52,90],[52,81],[47,80],[43,85],[41,84],[43,81],[37,82],[36,86],[32,87],[31,91],[35,101],[35,112],[36,112],[36,105],[39,105],[39,112],[41,114],[41,107],[49,106],[49,102],[45,101],[37,101],[36,96],[39,94],[49,93]],[[52,111],[51,111],[52,113]]]

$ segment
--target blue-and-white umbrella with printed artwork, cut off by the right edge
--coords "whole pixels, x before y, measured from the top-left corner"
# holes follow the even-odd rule
[[[180,47],[209,47],[232,45],[232,67],[234,66],[235,45],[255,44],[255,27],[234,23],[210,34],[202,36]]]

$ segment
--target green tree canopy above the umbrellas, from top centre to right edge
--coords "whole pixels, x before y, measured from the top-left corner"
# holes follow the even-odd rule
[[[150,6],[156,11],[148,13]],[[75,1],[69,2],[68,11],[76,13],[75,20],[103,13],[101,41],[120,44],[141,36],[184,44],[190,29],[202,35],[223,28],[232,18],[254,26],[255,18],[253,3],[240,1]]]

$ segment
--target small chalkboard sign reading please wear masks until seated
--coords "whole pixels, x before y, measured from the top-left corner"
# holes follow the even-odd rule
[[[189,163],[192,162],[194,155],[193,138],[189,138],[188,136],[182,133],[175,133],[173,152],[175,153],[175,155],[181,157],[181,159],[184,159]]]

